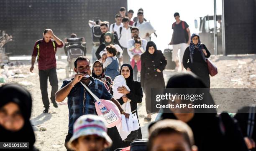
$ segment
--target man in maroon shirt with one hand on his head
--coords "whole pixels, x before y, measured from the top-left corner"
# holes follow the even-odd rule
[[[63,42],[54,35],[51,29],[44,30],[43,33],[44,38],[38,40],[34,46],[32,59],[31,59],[31,68],[30,72],[33,72],[34,64],[36,61],[38,62],[38,70],[39,70],[39,81],[40,81],[40,89],[44,104],[44,113],[48,113],[49,111],[49,98],[47,92],[47,83],[48,77],[49,82],[51,84],[51,102],[54,107],[58,107],[55,101],[55,93],[58,91],[58,78],[56,73],[56,50],[57,47],[63,47]],[[52,40],[53,39],[53,40]]]

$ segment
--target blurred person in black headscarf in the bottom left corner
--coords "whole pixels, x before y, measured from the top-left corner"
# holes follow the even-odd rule
[[[28,142],[26,151],[38,151],[31,117],[31,94],[16,84],[0,87],[0,142]],[[21,150],[21,149],[19,149]]]

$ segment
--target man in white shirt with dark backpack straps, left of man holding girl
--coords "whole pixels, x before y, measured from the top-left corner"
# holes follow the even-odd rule
[[[117,30],[117,35],[120,45],[123,47],[123,63],[130,64],[130,57],[127,52],[127,42],[132,38],[131,36],[131,26],[129,26],[129,18],[124,17],[122,20],[123,27],[119,27]]]

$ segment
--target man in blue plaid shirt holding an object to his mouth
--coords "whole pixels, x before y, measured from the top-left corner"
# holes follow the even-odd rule
[[[91,75],[90,60],[87,57],[80,56],[74,62],[74,78],[63,81],[61,89],[56,92],[56,101],[61,102],[68,97],[68,108],[69,108],[69,131],[66,136],[65,146],[67,148],[67,142],[73,135],[73,124],[82,115],[95,114],[95,100],[87,92],[82,84],[83,82],[93,94],[100,99],[106,99],[113,101],[120,110],[121,114],[129,117],[129,114],[123,111],[119,102],[113,98],[112,94],[108,92],[103,82],[93,77],[86,77]],[[68,148],[67,148],[68,149]]]

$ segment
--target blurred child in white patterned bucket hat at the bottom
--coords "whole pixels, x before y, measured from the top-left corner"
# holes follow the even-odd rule
[[[103,151],[111,145],[101,116],[83,115],[74,123],[74,135],[69,141],[69,147],[74,151]]]

